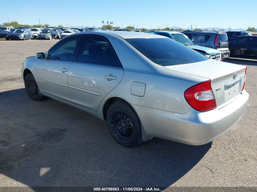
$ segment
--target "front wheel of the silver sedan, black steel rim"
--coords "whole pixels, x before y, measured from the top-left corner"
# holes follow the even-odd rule
[[[45,96],[39,94],[39,89],[32,73],[26,75],[26,77],[24,78],[24,83],[26,92],[28,93],[31,99],[35,101],[42,101],[46,99]]]

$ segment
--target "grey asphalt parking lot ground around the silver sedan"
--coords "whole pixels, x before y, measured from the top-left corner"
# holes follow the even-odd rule
[[[0,187],[257,186],[256,60],[224,60],[248,67],[250,100],[223,136],[202,146],[153,138],[125,148],[96,117],[26,94],[23,60],[57,41],[0,40]]]

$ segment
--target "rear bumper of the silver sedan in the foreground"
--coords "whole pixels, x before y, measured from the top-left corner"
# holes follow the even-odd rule
[[[249,94],[243,90],[221,109],[199,112],[190,109],[185,114],[133,105],[148,136],[189,145],[209,143],[226,133],[244,115]]]

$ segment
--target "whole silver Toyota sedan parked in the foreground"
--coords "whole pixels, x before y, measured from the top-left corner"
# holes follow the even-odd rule
[[[68,35],[27,58],[21,75],[33,100],[50,97],[106,120],[125,147],[152,137],[208,143],[241,119],[249,98],[245,66],[149,33]]]

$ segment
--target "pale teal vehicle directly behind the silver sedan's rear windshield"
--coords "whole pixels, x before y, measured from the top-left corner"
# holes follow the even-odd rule
[[[221,52],[217,49],[212,49],[209,47],[203,47],[199,45],[195,45],[186,35],[180,32],[174,31],[157,31],[155,32],[157,35],[162,35],[165,37],[169,37],[177,42],[180,42],[183,45],[188,46],[191,49],[203,54],[206,57],[211,59],[220,60],[221,61]]]

